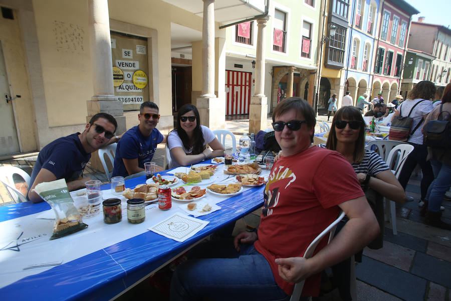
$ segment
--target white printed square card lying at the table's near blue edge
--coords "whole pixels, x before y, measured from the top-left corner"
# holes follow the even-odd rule
[[[202,230],[208,223],[207,221],[175,213],[164,221],[148,228],[148,230],[182,242]]]

